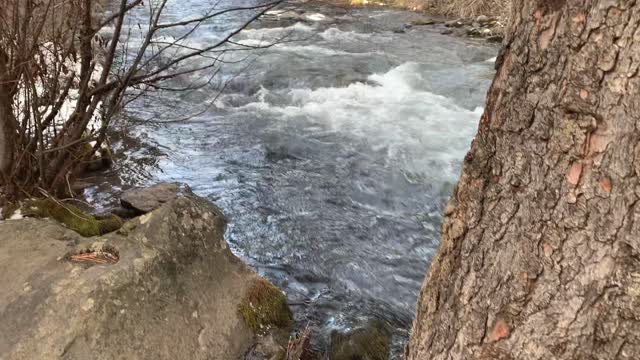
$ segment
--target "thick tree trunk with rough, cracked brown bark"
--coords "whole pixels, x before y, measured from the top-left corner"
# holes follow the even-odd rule
[[[514,2],[407,358],[640,358],[640,4]]]

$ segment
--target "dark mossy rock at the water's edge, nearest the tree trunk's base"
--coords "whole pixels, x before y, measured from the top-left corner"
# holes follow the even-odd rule
[[[386,325],[372,320],[347,334],[331,334],[331,360],[387,360],[391,336]]]

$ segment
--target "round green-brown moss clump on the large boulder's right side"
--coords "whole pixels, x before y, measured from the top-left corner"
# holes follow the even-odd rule
[[[253,282],[238,305],[238,312],[247,326],[260,335],[274,327],[288,328],[293,321],[282,291],[264,279]]]

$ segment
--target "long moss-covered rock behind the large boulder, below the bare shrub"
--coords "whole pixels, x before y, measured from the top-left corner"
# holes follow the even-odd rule
[[[82,236],[98,236],[118,230],[123,221],[116,215],[94,216],[82,212],[70,204],[46,199],[33,199],[24,206],[23,214],[33,217],[49,217],[63,223]]]

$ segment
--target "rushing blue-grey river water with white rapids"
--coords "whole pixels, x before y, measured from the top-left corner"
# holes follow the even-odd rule
[[[178,3],[174,18],[209,5]],[[234,252],[284,289],[319,346],[376,317],[395,329],[397,357],[497,48],[432,27],[398,32],[418,16],[408,12],[295,7],[297,18],[272,12],[234,38],[286,41],[226,66],[231,81],[206,112],[138,127],[166,154],[147,181],[185,182],[220,206]],[[193,41],[230,28],[208,24]],[[157,94],[128,116],[179,118],[215,97]]]

